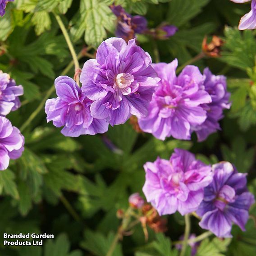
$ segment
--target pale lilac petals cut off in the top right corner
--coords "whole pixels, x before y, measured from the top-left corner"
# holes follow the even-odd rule
[[[242,4],[242,3],[249,2],[250,0],[231,0],[231,1],[238,4]],[[251,11],[245,14],[241,18],[238,28],[240,30],[256,28],[256,0],[251,1]]]

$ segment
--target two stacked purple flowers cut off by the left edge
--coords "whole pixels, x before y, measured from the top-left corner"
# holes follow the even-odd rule
[[[9,160],[19,158],[24,151],[23,135],[5,117],[20,107],[18,96],[21,95],[23,87],[0,71],[0,170],[7,169]]]

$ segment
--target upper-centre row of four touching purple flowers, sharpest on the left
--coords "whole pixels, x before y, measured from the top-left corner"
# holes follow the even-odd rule
[[[47,121],[63,127],[65,136],[105,133],[108,125],[125,123],[131,115],[140,128],[164,140],[173,136],[199,141],[219,127],[223,110],[230,107],[224,76],[209,69],[202,75],[187,66],[176,77],[178,61],[151,64],[148,53],[121,38],[99,46],[96,59],[83,66],[82,88],[67,76],[55,80],[57,98],[46,101]]]

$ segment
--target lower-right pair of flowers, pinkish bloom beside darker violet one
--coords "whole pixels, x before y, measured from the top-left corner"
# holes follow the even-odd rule
[[[232,224],[245,230],[254,196],[247,190],[247,174],[229,162],[205,165],[192,153],[175,149],[170,160],[158,158],[144,165],[143,192],[160,215],[196,211],[199,225],[217,237],[231,237]]]

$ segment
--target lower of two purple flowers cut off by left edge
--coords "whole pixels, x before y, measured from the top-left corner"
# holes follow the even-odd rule
[[[24,151],[24,137],[11,122],[0,116],[0,170],[9,166],[10,159],[17,159]]]

